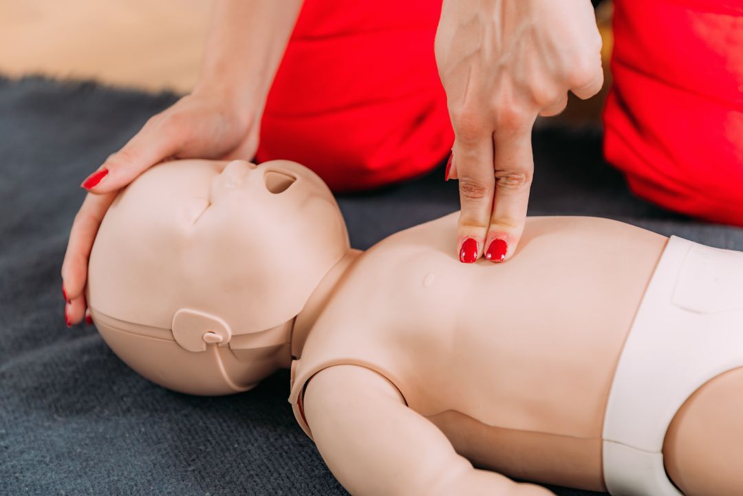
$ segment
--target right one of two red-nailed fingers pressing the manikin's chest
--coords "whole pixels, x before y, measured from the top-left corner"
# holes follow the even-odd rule
[[[493,215],[485,238],[484,256],[492,262],[507,260],[519,245],[529,203],[533,175],[531,128],[496,131],[496,193]]]

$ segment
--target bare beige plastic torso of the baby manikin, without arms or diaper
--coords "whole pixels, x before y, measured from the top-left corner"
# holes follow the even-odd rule
[[[323,368],[363,365],[476,465],[603,489],[611,379],[666,238],[605,219],[530,218],[507,264],[465,265],[449,246],[456,221],[357,255],[298,353],[294,337],[293,399]]]

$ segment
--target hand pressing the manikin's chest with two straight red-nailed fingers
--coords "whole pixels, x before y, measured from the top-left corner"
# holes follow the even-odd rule
[[[444,0],[435,53],[455,142],[460,260],[503,261],[521,238],[533,174],[531,128],[567,92],[603,85],[601,37],[588,0]]]

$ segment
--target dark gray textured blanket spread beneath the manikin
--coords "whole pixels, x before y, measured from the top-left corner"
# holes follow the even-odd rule
[[[59,267],[80,181],[175,101],[94,84],[0,79],[0,494],[342,495],[286,402],[288,374],[233,397],[141,379],[93,327],[62,319]],[[532,215],[603,215],[743,249],[741,229],[632,198],[598,131],[541,128]],[[457,208],[429,176],[340,198],[356,247]],[[556,489],[559,495],[587,495]]]

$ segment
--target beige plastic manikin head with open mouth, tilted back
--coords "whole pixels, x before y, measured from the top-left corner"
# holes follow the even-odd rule
[[[293,319],[348,249],[331,192],[298,163],[163,163],[108,209],[88,307],[147,379],[189,394],[245,391],[288,362]]]

